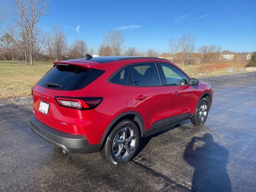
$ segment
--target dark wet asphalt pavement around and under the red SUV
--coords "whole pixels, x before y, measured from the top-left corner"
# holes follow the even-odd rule
[[[30,130],[31,97],[0,101],[0,191],[256,191],[256,73],[201,80],[214,90],[206,124],[144,138],[122,167],[54,151]]]

